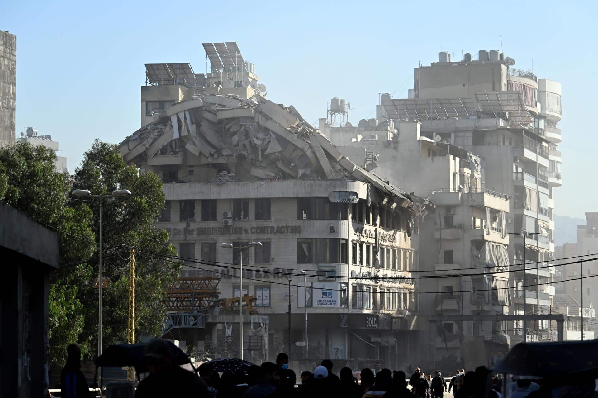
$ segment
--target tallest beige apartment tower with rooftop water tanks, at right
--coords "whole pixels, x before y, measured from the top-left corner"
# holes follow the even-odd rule
[[[512,65],[514,60],[495,50],[480,51],[478,60],[465,54],[459,62],[440,53],[439,62],[414,69],[410,98],[381,99],[379,117],[395,124],[419,121],[423,136],[484,159],[483,187],[512,198],[508,231],[526,234],[512,235],[509,241],[509,263],[531,263],[525,271],[523,265],[517,266],[520,272],[511,267],[511,286],[516,288],[511,312],[542,314],[550,311],[554,295],[552,189],[561,185],[560,84]],[[514,335],[520,326],[510,328]],[[526,326],[530,339],[546,333],[541,325]]]

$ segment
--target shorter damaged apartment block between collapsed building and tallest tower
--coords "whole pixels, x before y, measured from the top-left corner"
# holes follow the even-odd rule
[[[509,198],[482,188],[483,159],[423,136],[421,123],[363,122],[362,127],[332,127],[321,119],[319,128],[355,163],[435,205],[419,225],[417,271],[442,276],[419,282],[419,315],[440,314],[444,320],[432,349],[422,347],[425,358],[449,368],[486,363],[490,354],[507,353],[501,322],[460,322],[458,316],[508,314]],[[490,274],[481,275],[486,272]],[[420,329],[421,338],[429,340],[428,327]]]

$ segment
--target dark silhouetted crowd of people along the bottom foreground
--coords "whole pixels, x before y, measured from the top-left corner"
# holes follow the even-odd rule
[[[79,370],[79,347],[70,345],[68,354],[61,378],[61,396],[89,398],[87,383]],[[289,369],[289,356],[285,353],[278,354],[276,363],[264,362],[243,371],[222,373],[206,362],[194,373],[174,365],[169,346],[160,339],[146,345],[144,362],[149,375],[139,382],[136,398],[444,398],[445,393],[452,393],[453,398],[502,398],[502,380],[496,376],[489,378],[490,371],[484,366],[475,372],[458,369],[447,386],[440,371],[435,371],[432,377],[420,368],[409,378],[403,371],[380,369],[374,373],[365,368],[358,380],[352,369],[344,367],[339,377],[333,371],[332,361],[325,359],[313,372],[301,372],[299,382],[297,373]],[[539,385],[526,379],[507,384],[507,390],[509,397],[541,397]]]

